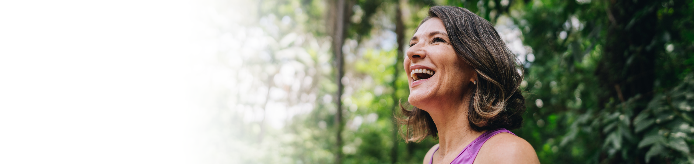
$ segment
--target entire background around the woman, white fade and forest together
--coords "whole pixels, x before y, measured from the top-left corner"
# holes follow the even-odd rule
[[[691,0],[3,1],[0,163],[421,163],[393,116],[437,5],[518,56],[541,163],[694,163]]]

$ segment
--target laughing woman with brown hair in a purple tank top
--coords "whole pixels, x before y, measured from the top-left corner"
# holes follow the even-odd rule
[[[434,6],[403,63],[412,110],[407,142],[438,138],[423,163],[539,163],[521,127],[525,100],[516,56],[489,21],[465,8]]]

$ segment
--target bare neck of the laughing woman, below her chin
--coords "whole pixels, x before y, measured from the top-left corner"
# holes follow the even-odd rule
[[[468,100],[464,98],[463,100]],[[459,154],[484,131],[475,131],[468,122],[468,101],[428,110],[439,131],[439,151],[441,155]]]

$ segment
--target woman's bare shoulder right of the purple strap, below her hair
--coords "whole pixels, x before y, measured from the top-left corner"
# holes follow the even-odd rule
[[[530,143],[509,133],[492,136],[482,145],[475,163],[540,163]]]

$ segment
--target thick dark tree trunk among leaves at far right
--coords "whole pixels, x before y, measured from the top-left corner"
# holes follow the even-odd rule
[[[633,113],[645,109],[646,102],[652,98],[655,79],[656,51],[663,44],[657,42],[657,6],[659,2],[612,0],[606,7],[608,28],[604,55],[595,74],[598,75],[601,88],[605,91],[598,95],[598,104],[604,106],[609,100],[625,102],[636,95],[641,96]],[[636,114],[629,120],[634,119]],[[627,148],[628,149],[628,148]],[[634,159],[641,163],[643,153],[629,151],[627,156],[641,156]],[[618,154],[620,156],[620,154]],[[604,152],[601,161],[608,158]],[[624,158],[615,157],[608,163],[625,163]]]

